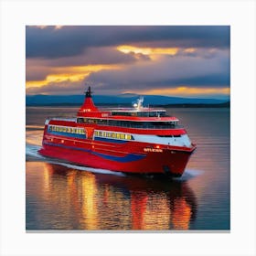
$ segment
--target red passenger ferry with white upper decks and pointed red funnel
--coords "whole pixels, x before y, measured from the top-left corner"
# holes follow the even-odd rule
[[[182,176],[196,149],[178,119],[143,106],[98,109],[91,87],[75,118],[46,120],[41,155],[133,174]]]

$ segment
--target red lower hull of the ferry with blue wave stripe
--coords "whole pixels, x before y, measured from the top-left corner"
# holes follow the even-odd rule
[[[193,151],[194,148],[189,151],[163,149],[156,152],[127,153],[95,149],[94,144],[76,147],[70,144],[45,142],[39,153],[77,165],[123,173],[182,176]]]

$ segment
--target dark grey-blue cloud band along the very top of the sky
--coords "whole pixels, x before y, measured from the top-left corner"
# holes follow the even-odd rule
[[[27,27],[27,58],[76,56],[91,47],[229,48],[227,26]]]

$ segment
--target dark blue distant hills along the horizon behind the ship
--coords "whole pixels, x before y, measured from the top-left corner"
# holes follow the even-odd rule
[[[133,101],[138,99],[136,94],[122,94],[122,95],[94,95],[93,101],[96,105],[132,105]],[[27,95],[27,106],[51,106],[51,105],[80,105],[84,101],[84,95]],[[194,98],[178,98],[160,95],[145,95],[144,106],[147,105],[215,105],[226,104],[229,102],[225,100],[216,99],[194,99]]]

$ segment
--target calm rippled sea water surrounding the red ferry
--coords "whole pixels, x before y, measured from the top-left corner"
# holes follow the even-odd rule
[[[230,229],[229,109],[167,109],[197,144],[184,175],[173,180],[39,155],[45,119],[77,110],[27,107],[27,230]]]

